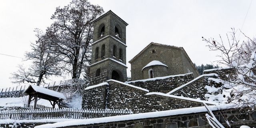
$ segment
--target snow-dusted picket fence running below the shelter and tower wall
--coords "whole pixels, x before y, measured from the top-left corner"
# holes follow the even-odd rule
[[[90,119],[108,116],[132,114],[131,110],[124,109],[29,109],[0,111],[0,120],[38,120],[38,119]]]

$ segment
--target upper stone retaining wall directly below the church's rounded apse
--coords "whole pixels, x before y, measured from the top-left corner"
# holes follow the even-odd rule
[[[175,77],[169,77],[161,80],[148,80],[145,82],[142,81],[135,81],[135,82],[127,82],[128,84],[132,84],[134,86],[138,86],[141,88],[146,88],[150,92],[162,92],[162,93],[168,93],[174,88],[177,88],[183,84],[186,84],[187,82],[190,82],[194,79],[193,74],[186,74],[184,76],[175,76]]]

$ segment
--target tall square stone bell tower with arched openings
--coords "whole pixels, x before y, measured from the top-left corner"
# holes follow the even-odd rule
[[[114,79],[127,80],[126,26],[111,10],[94,20],[90,85]]]

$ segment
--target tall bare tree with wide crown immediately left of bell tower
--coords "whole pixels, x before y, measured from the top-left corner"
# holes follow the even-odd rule
[[[92,20],[102,13],[100,6],[87,0],[72,0],[64,8],[56,8],[52,15],[54,23],[46,30],[51,41],[49,46],[52,53],[60,56],[58,61],[64,64],[64,70],[72,74],[72,79],[79,78],[90,64]]]

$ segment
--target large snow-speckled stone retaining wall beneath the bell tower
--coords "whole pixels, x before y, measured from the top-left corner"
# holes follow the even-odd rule
[[[131,109],[134,113],[142,113],[203,106],[198,102],[160,95],[146,95],[147,92],[143,90],[113,81],[108,83],[107,93],[104,92],[106,87],[102,86],[86,90],[82,107],[105,108],[104,104],[106,104],[106,108],[109,109]]]

